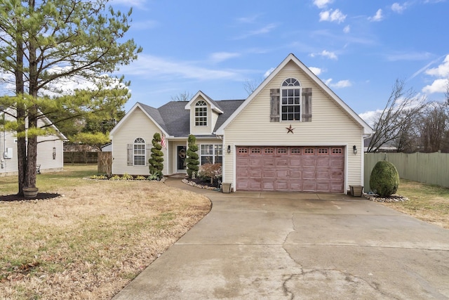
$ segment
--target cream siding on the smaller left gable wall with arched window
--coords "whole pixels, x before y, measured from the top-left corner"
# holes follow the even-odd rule
[[[133,144],[136,138],[143,138],[145,144],[152,144],[154,133],[161,133],[161,130],[154,124],[145,112],[137,107],[118,128],[114,131],[112,139],[112,174],[130,174],[130,175],[149,175],[148,165],[128,166],[127,165],[127,145]],[[167,150],[162,148],[163,152],[163,174],[167,174]],[[147,155],[145,161],[147,162]]]

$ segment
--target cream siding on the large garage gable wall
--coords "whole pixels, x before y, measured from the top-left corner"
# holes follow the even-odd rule
[[[303,88],[312,88],[311,122],[269,122],[270,89],[279,89],[288,77],[298,79]],[[290,124],[294,128],[293,134],[287,133],[286,127]],[[224,148],[231,145],[232,153],[225,154],[223,182],[234,183],[234,147],[237,145],[342,145],[347,146],[347,188],[362,184],[362,133],[362,127],[340,105],[323,93],[300,67],[290,62],[225,128]],[[352,153],[353,145],[358,149],[357,155]]]

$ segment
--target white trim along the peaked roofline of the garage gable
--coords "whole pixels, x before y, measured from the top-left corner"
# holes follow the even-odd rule
[[[358,124],[360,124],[360,126],[363,128],[363,134],[373,133],[373,129],[365,121],[363,121],[363,119],[359,117],[356,114],[356,112],[354,112],[354,110],[351,109],[351,107],[349,107],[346,103],[344,103],[344,101],[340,99],[340,97],[338,97],[331,89],[329,89],[329,87],[326,86],[326,84],[324,84],[323,81],[319,79],[319,77],[317,77],[313,72],[311,72],[311,70],[309,70],[309,68],[306,67],[299,59],[297,59],[296,56],[293,55],[293,53],[290,53],[287,56],[287,58],[284,59],[282,63],[278,65],[278,67],[276,67],[276,69],[271,74],[269,74],[267,78],[264,79],[264,81],[262,81],[262,84],[260,84],[260,86],[258,86],[257,89],[255,89],[255,91],[253,91],[253,93],[251,93],[250,96],[246,98],[246,100],[225,121],[225,123],[223,123],[219,129],[217,129],[217,134],[222,135],[224,133],[225,128],[229,125],[229,123],[231,123],[232,120],[237,115],[239,115],[243,109],[245,109],[245,107],[255,98],[255,96],[257,96],[257,94],[260,93],[260,91],[262,91],[262,89],[264,89],[264,87],[267,86],[267,84],[270,81],[272,81],[272,79],[276,77],[277,74],[279,74],[279,72],[281,72],[283,67],[285,67],[288,63],[290,63],[290,61],[293,61],[293,63],[295,63],[298,67],[300,67],[300,69],[303,72],[305,72],[310,77],[311,80],[313,80],[323,91],[328,93],[330,98],[332,98],[337,104],[339,104],[349,114],[349,116],[351,116]]]

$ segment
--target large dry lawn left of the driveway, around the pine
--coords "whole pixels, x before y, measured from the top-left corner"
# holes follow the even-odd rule
[[[0,202],[0,299],[110,299],[210,211],[201,195],[76,167],[39,175],[62,197]]]

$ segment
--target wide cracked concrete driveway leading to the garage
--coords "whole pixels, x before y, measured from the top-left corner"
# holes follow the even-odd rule
[[[345,195],[194,191],[212,211],[115,300],[449,299],[449,230]]]

